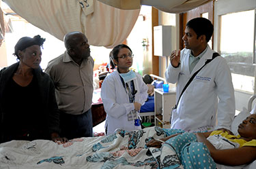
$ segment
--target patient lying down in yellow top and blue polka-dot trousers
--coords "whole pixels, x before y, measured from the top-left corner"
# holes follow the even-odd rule
[[[179,148],[175,151],[180,152],[183,159],[189,159],[193,154],[201,157],[206,163],[208,161],[209,164],[214,164],[212,163],[214,160],[217,164],[240,166],[249,164],[256,159],[256,114],[250,115],[242,121],[242,124],[238,126],[238,133],[238,136],[234,136],[229,130],[195,134],[170,130],[170,136],[160,140],[152,138],[146,145],[147,147],[162,147],[162,143],[165,142],[175,147],[175,144],[178,144],[183,149]],[[186,138],[190,138],[190,140]],[[201,149],[205,145],[208,149]],[[205,158],[204,156],[207,156],[208,152],[211,157]],[[195,165],[184,164],[184,166],[190,165],[193,168],[201,167],[199,162]]]

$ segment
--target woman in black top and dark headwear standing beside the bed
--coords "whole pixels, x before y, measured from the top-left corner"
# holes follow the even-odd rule
[[[44,41],[40,35],[20,38],[14,52],[18,62],[0,71],[0,143],[35,139],[67,141],[59,137],[53,81],[40,68],[40,47]]]

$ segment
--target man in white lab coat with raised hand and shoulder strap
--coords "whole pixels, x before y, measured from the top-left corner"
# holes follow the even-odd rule
[[[203,67],[214,54],[208,45],[212,33],[210,20],[194,18],[186,24],[182,37],[185,49],[171,52],[171,64],[165,72],[167,81],[177,82],[177,109],[172,111],[171,128],[191,132],[230,128],[236,107],[229,66],[225,58],[217,56]],[[190,77],[199,69],[180,97]]]

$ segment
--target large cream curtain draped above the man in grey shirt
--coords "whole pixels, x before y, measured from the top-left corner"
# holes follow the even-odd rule
[[[130,34],[137,10],[119,10],[96,0],[3,0],[31,24],[63,40],[70,31],[85,33],[90,45],[113,46]]]

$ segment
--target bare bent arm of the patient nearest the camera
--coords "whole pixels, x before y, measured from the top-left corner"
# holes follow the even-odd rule
[[[201,134],[195,134],[197,141],[205,143],[208,147],[212,158],[218,164],[224,164],[227,166],[239,166],[242,164],[249,164],[256,159],[256,147],[240,147],[238,149],[216,149],[212,143],[210,143],[206,137]]]

